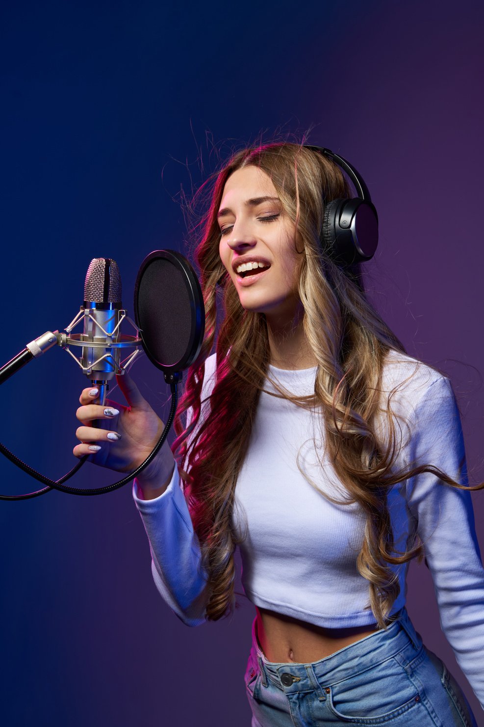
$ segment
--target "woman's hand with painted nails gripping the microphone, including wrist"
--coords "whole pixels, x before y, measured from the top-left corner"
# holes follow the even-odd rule
[[[116,377],[128,406],[114,401],[106,401],[100,406],[97,401],[98,390],[84,389],[79,397],[81,406],[76,417],[81,426],[76,437],[81,444],[73,449],[76,457],[91,455],[90,461],[101,467],[109,467],[116,472],[132,472],[150,454],[164,429],[164,424],[129,374]],[[95,420],[104,420],[105,428],[92,426]],[[172,478],[174,457],[169,444],[165,441],[153,462],[145,467],[137,478],[138,489],[144,499],[158,497],[166,490]]]

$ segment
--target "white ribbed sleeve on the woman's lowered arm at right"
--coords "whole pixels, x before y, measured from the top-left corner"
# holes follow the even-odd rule
[[[448,379],[432,382],[415,414],[409,459],[435,465],[466,485],[461,422]],[[484,569],[471,494],[428,473],[409,479],[407,487],[408,506],[434,582],[440,625],[484,708]]]

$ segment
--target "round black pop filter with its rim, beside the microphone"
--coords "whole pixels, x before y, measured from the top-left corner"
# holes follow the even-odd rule
[[[205,306],[190,262],[174,250],[155,250],[143,260],[134,285],[134,319],[142,347],[165,374],[187,369],[200,353]]]

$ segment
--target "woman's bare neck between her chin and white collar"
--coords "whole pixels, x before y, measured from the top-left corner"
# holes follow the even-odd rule
[[[277,369],[310,369],[318,365],[304,333],[303,316],[302,305],[292,318],[266,314],[270,364]]]

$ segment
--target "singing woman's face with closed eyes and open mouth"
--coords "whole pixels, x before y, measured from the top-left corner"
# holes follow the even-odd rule
[[[296,226],[270,177],[257,166],[233,172],[225,183],[218,222],[220,258],[243,308],[281,322],[294,318],[301,255]],[[243,264],[248,269],[241,270]]]

